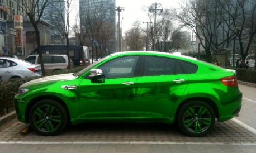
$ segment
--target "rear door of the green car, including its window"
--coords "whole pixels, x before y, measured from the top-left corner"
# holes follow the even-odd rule
[[[134,111],[138,117],[169,117],[187,87],[187,74],[172,58],[144,56],[140,65]]]

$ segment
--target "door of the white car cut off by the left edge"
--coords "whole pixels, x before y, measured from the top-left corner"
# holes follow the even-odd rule
[[[12,75],[11,61],[7,59],[0,59],[0,74],[2,75],[2,80],[8,80]]]

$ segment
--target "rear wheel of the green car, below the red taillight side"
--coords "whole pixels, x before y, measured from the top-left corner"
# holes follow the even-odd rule
[[[177,122],[186,135],[201,137],[214,127],[215,113],[206,102],[190,101],[179,109]]]

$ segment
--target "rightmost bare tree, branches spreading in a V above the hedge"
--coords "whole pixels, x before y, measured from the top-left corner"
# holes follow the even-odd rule
[[[222,0],[219,1],[219,4],[224,14],[231,18],[229,30],[233,39],[239,41],[242,63],[244,64],[256,34],[256,3],[250,0]],[[225,18],[224,21],[226,21]]]

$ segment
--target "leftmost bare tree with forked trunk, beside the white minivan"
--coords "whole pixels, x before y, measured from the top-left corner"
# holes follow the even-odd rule
[[[31,24],[35,29],[37,48],[39,51],[39,59],[41,61],[42,75],[45,75],[45,68],[44,68],[44,61],[42,59],[40,31],[38,28],[38,23],[44,13],[45,7],[48,7],[49,4],[53,2],[54,0],[26,0],[26,1],[21,1],[21,5],[20,5],[20,1],[16,0],[16,3],[20,5],[19,7],[23,9],[23,11],[29,17]]]

